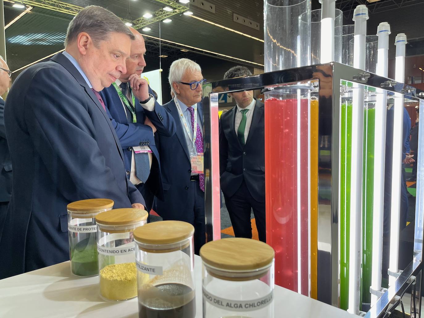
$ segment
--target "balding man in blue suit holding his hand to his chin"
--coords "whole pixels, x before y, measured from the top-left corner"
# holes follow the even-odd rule
[[[120,140],[128,179],[141,192],[150,212],[155,195],[163,200],[155,135],[171,137],[176,126],[174,118],[154,99],[147,81],[140,78],[146,66],[146,46],[143,36],[130,30],[135,40],[126,60],[127,72],[100,95]]]

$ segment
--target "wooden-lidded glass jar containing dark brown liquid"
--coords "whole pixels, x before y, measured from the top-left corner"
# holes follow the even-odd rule
[[[196,315],[194,227],[181,221],[148,223],[134,231],[139,318]]]

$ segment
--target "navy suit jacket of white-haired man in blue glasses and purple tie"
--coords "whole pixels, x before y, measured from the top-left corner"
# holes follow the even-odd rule
[[[185,131],[174,100],[163,105],[176,123],[176,134],[171,137],[159,135],[159,156],[162,168],[164,200],[156,198],[156,212],[167,220],[184,220],[184,208],[194,205],[193,193],[187,191],[190,184],[191,163]],[[197,103],[203,126],[202,103]]]

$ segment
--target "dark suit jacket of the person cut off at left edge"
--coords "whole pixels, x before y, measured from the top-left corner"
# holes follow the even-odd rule
[[[4,127],[3,99],[0,99],[0,169],[0,202],[8,202],[12,193],[12,162],[6,140],[6,129]]]

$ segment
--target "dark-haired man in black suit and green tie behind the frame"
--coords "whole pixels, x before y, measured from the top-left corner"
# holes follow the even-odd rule
[[[247,67],[229,69],[224,79],[252,75]],[[265,242],[264,104],[253,91],[231,94],[236,100],[219,125],[220,185],[236,237],[252,238],[253,213],[259,240]]]

